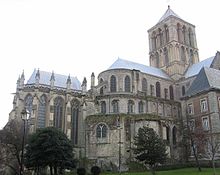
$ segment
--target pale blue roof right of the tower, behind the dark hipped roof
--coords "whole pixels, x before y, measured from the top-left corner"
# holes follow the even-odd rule
[[[197,75],[203,67],[210,67],[214,58],[213,56],[190,66],[185,73],[185,78]]]

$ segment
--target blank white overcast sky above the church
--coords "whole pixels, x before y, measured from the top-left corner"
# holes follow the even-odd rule
[[[196,26],[200,60],[220,50],[219,0],[0,0],[0,128],[23,70],[90,82],[118,57],[149,65],[147,30],[168,5]]]

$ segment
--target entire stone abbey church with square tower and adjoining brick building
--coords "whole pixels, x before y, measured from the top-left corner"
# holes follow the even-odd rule
[[[170,7],[148,39],[150,66],[118,58],[98,77],[92,73],[90,85],[39,69],[25,81],[22,73],[9,120],[21,120],[26,108],[30,133],[60,128],[76,156],[99,166],[126,169],[143,126],[161,136],[171,161],[192,158],[184,128],[220,140],[220,52],[200,62],[195,26]],[[193,146],[207,158],[208,143]]]

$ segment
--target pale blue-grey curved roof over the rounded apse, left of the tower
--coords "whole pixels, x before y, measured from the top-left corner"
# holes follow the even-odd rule
[[[132,61],[124,60],[121,58],[118,58],[109,68],[108,70],[111,69],[129,69],[129,70],[139,70],[143,73],[154,75],[160,78],[165,78],[169,79],[170,77],[161,69],[155,68],[155,67],[150,67],[150,66],[145,66],[143,64],[135,63]]]

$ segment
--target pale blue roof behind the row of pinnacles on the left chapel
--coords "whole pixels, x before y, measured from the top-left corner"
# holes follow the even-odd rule
[[[31,77],[29,78],[29,80],[27,81],[27,85],[28,84],[35,84],[35,76],[38,70],[34,70],[34,72],[32,73]],[[40,81],[39,83],[41,85],[47,85],[50,86],[50,79],[51,79],[51,72],[45,72],[45,71],[39,71],[40,72]],[[54,86],[57,88],[66,88],[66,82],[68,79],[68,76],[66,75],[61,75],[61,74],[56,74],[54,73]],[[77,77],[70,77],[71,78],[71,89],[73,90],[81,90],[81,83],[80,81],[77,79]]]

